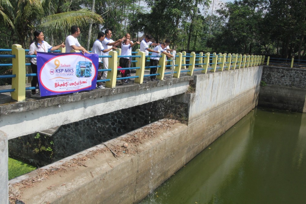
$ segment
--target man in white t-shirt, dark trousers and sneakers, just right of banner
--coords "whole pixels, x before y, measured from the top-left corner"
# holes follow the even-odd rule
[[[94,54],[98,54],[99,56],[101,56],[103,53],[109,52],[112,49],[115,49],[116,47],[110,47],[108,49],[104,49],[103,45],[102,45],[102,41],[105,39],[105,33],[104,32],[99,32],[98,33],[98,38],[95,40],[93,46],[92,46],[92,53]],[[102,69],[103,65],[102,65],[102,57],[99,57],[99,68],[98,69]],[[101,76],[102,76],[102,72],[98,72],[98,78],[97,80],[101,80]],[[102,86],[102,82],[97,82],[97,88],[99,89],[104,89],[105,87]]]

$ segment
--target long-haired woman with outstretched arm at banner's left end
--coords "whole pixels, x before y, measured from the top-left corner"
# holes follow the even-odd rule
[[[34,39],[31,42],[28,54],[30,54],[30,55],[35,54],[36,55],[37,52],[48,52],[48,50],[54,51],[54,50],[58,50],[60,47],[65,47],[64,43],[62,43],[58,46],[52,47],[51,45],[49,45],[49,43],[47,43],[43,39],[44,39],[43,32],[40,31],[40,30],[36,30],[34,32]],[[36,57],[31,59],[31,69],[32,69],[32,73],[35,73],[37,75]],[[31,82],[31,87],[36,87],[37,84],[38,84],[38,76],[33,76],[32,82]],[[36,89],[33,89],[31,97],[40,98],[40,93],[39,92],[36,93]]]

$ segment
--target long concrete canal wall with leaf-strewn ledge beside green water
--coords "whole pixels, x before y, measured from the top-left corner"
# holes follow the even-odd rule
[[[261,74],[262,66],[195,75],[195,91],[176,98],[188,103],[188,125],[166,119],[149,124],[105,143],[112,148],[129,144],[118,151],[119,158],[103,151],[107,148],[101,144],[10,180],[11,190],[20,188],[14,185],[18,181],[40,179],[31,188],[18,190],[21,200],[137,203],[257,105]],[[136,143],[139,138],[143,140]]]

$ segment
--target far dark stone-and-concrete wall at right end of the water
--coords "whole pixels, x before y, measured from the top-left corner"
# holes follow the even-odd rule
[[[306,70],[264,66],[258,105],[306,113]]]

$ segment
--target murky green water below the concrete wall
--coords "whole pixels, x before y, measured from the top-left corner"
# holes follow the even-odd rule
[[[306,114],[257,108],[145,203],[306,203]]]

